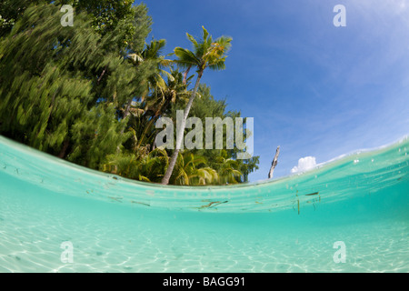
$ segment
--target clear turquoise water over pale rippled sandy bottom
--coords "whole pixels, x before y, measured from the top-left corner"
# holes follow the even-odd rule
[[[302,175],[177,187],[0,136],[0,272],[408,272],[408,153],[406,137]]]

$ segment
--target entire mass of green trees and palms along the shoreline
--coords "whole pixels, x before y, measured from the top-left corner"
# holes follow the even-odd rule
[[[62,5],[73,5],[73,26],[61,25]],[[226,148],[225,131],[223,149],[177,150],[186,117],[240,117],[200,82],[205,69],[224,69],[231,38],[203,27],[202,37],[186,34],[193,51],[163,55],[165,39],[146,41],[148,7],[133,1],[5,0],[0,16],[0,135],[151,183],[230,185],[258,169],[258,156]],[[178,110],[176,150],[156,147],[156,122],[175,123]]]

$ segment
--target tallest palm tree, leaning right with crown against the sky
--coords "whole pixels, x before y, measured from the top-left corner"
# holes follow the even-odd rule
[[[192,92],[192,95],[189,98],[189,102],[185,107],[183,124],[182,126],[180,126],[180,130],[176,133],[176,148],[174,153],[172,154],[169,166],[166,169],[165,176],[162,179],[162,184],[164,185],[169,184],[169,179],[172,176],[172,172],[174,171],[177,156],[179,155],[179,150],[182,146],[184,137],[185,121],[195,100],[195,95],[197,89],[199,88],[202,75],[207,67],[212,70],[223,70],[225,68],[225,54],[231,47],[232,38],[221,36],[214,41],[212,36],[209,35],[207,30],[205,30],[205,27],[202,26],[202,28],[203,38],[200,41],[196,41],[194,36],[186,34],[187,38],[194,45],[194,52],[182,47],[176,47],[174,52],[177,56],[177,60],[175,60],[175,63],[177,65],[187,68],[188,70],[193,66],[197,67],[197,79],[195,89]]]

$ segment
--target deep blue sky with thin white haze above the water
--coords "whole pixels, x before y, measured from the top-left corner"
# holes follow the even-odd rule
[[[152,35],[192,48],[185,33],[233,37],[226,69],[206,71],[212,95],[254,117],[254,155],[267,177],[304,156],[323,163],[409,134],[409,1],[145,0]],[[335,27],[335,5],[346,26]]]

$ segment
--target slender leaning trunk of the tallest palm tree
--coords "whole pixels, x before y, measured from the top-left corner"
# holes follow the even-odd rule
[[[192,107],[193,102],[195,100],[195,95],[197,93],[197,90],[199,89],[200,79],[202,78],[202,75],[203,75],[203,71],[200,71],[199,74],[197,75],[194,92],[190,96],[189,102],[187,103],[185,107],[182,126],[179,127],[179,131],[176,133],[176,148],[174,150],[174,153],[172,154],[169,166],[166,169],[165,176],[162,179],[162,183],[161,183],[162,185],[169,184],[169,179],[172,176],[172,173],[174,172],[177,156],[179,155],[180,146],[182,146],[182,141],[183,141],[184,134],[185,134],[186,119],[187,119],[187,116],[189,115],[190,108]]]

